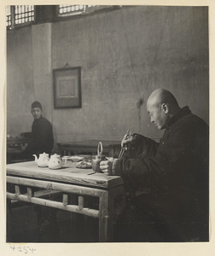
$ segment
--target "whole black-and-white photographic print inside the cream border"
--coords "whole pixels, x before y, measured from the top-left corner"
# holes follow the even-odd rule
[[[53,4],[5,5],[10,250],[209,244],[209,6]]]

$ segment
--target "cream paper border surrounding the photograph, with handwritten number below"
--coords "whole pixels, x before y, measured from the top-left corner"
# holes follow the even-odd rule
[[[1,69],[0,69],[0,117],[1,117],[1,127],[0,127],[0,140],[2,146],[2,154],[0,163],[2,166],[1,169],[1,187],[0,187],[0,253],[1,255],[24,255],[25,252],[15,252],[11,249],[11,245],[5,242],[5,230],[6,230],[6,220],[5,220],[5,212],[6,212],[6,202],[5,202],[5,165],[6,165],[6,154],[5,154],[5,141],[6,141],[6,9],[5,6],[9,4],[67,4],[68,1],[10,1],[3,0],[1,1],[0,8],[0,31],[1,31],[1,44],[0,44],[0,60],[1,60]],[[61,256],[61,255],[116,255],[116,256],[126,256],[126,255],[195,255],[195,256],[210,256],[214,255],[214,235],[213,230],[213,221],[214,221],[214,213],[215,213],[215,203],[214,203],[214,172],[212,172],[212,166],[214,166],[214,101],[212,96],[214,95],[214,55],[215,51],[213,46],[215,45],[214,35],[215,35],[215,1],[214,0],[187,0],[187,1],[178,1],[178,0],[139,0],[139,1],[76,1],[75,4],[104,4],[104,5],[171,5],[171,6],[209,6],[209,52],[210,52],[210,241],[209,242],[195,242],[195,243],[27,243],[26,246],[33,247],[36,249],[34,253],[30,253],[31,255],[39,255],[39,256]],[[212,228],[213,227],[213,228]],[[17,243],[15,243],[17,246]],[[19,244],[18,244],[19,245]],[[23,246],[25,244],[21,244]],[[27,254],[26,254],[27,255]]]

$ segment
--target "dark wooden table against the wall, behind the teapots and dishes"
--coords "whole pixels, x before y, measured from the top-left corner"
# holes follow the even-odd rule
[[[65,154],[78,154],[81,152],[85,153],[92,153],[97,154],[97,147],[99,140],[90,140],[90,141],[83,141],[83,142],[69,142],[69,143],[57,143],[59,154],[65,155]],[[109,156],[118,156],[119,150],[120,150],[120,142],[116,141],[103,141],[102,142],[102,148],[103,148],[103,154],[109,155]]]

